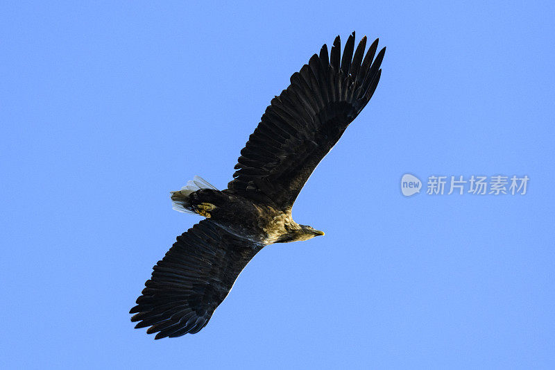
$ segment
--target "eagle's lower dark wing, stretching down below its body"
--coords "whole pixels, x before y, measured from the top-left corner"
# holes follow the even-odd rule
[[[197,333],[230,292],[246,264],[262,249],[235,237],[210,220],[178,236],[147,280],[131,321],[150,326],[155,339]]]

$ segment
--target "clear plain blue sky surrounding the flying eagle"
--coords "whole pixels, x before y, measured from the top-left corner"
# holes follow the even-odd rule
[[[555,367],[552,2],[3,1],[3,369]],[[323,43],[387,46],[370,104],[200,333],[128,310]],[[403,174],[529,176],[406,198]]]

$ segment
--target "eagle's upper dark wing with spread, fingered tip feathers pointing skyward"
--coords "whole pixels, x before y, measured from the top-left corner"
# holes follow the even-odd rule
[[[272,99],[241,150],[227,191],[291,209],[318,162],[374,94],[385,53],[384,48],[373,60],[377,42],[364,56],[362,37],[353,56],[353,32],[341,58],[337,36],[329,59],[324,44],[319,56],[314,54],[293,74],[291,85]]]

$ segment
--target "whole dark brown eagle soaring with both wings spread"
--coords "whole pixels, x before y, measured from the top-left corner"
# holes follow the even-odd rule
[[[153,267],[137,305],[135,328],[155,339],[197,333],[264,246],[324,235],[293,221],[291,209],[318,162],[359,115],[376,90],[385,48],[355,33],[341,56],[339,36],[324,44],[270,106],[250,135],[228,189],[195,176],[171,192],[173,209],[205,217],[177,237]],[[363,58],[364,57],[364,58]],[[375,58],[374,58],[375,57]]]

